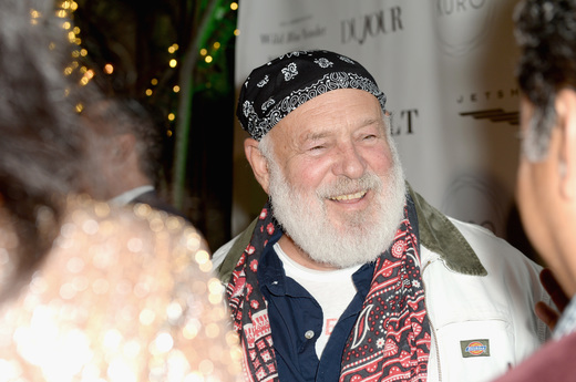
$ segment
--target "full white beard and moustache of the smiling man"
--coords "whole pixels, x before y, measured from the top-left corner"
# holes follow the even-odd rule
[[[360,179],[341,177],[311,195],[289,185],[281,169],[268,161],[276,219],[316,262],[349,268],[376,260],[392,244],[404,214],[404,174],[394,148],[392,157],[393,165],[384,179],[373,173],[366,173]],[[358,189],[372,189],[373,203],[363,211],[342,217],[344,227],[339,229],[328,217],[327,198]]]

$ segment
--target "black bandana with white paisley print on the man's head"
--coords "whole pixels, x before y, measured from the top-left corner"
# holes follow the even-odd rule
[[[384,110],[384,93],[361,64],[329,51],[298,51],[250,73],[241,86],[236,115],[243,128],[260,141],[296,107],[337,89],[367,91]]]

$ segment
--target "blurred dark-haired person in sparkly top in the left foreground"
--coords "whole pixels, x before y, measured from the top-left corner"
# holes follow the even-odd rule
[[[235,381],[202,236],[81,197],[97,102],[47,0],[0,0],[0,380]],[[76,93],[75,90],[79,92]]]

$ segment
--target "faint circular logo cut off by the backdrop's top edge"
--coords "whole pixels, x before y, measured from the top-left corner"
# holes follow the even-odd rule
[[[484,40],[495,1],[436,0],[436,32],[449,54],[466,54]]]

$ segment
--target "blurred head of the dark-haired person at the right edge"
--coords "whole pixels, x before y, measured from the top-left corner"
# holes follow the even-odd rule
[[[576,291],[576,1],[528,0],[515,13],[521,48],[517,198],[535,248]]]

